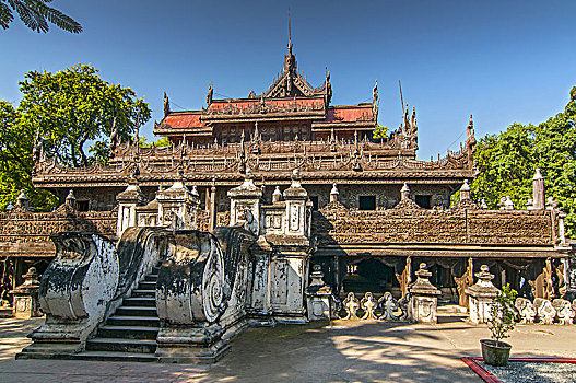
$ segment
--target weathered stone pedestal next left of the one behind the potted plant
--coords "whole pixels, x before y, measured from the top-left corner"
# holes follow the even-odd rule
[[[440,291],[430,282],[428,278],[432,277],[432,272],[426,270],[426,264],[420,264],[420,269],[415,275],[416,281],[408,288],[410,292],[408,318],[410,322],[436,323]]]

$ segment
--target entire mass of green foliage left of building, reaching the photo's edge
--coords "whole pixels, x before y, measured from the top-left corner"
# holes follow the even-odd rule
[[[20,90],[17,108],[0,101],[0,210],[15,201],[20,189],[38,210],[55,206],[54,196],[32,185],[39,142],[45,156],[67,166],[107,163],[113,127],[119,141],[132,140],[151,115],[131,89],[102,80],[90,66],[28,72]]]

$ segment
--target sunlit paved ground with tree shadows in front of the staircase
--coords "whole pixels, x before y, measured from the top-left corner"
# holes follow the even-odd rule
[[[14,360],[42,320],[0,320],[0,382],[481,382],[462,356],[479,356],[485,326],[336,322],[249,328],[213,365]],[[513,355],[576,357],[576,325],[517,326]]]

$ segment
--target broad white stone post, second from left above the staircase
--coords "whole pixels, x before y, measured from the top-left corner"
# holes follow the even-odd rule
[[[184,182],[176,181],[166,190],[156,194],[158,201],[158,225],[174,225],[175,230],[196,229],[200,196],[196,186],[190,192]]]

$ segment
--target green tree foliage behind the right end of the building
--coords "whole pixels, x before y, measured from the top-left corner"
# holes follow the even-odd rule
[[[475,197],[497,208],[510,196],[525,208],[532,197],[532,176],[539,167],[545,178],[546,196],[568,213],[568,235],[576,234],[576,86],[564,112],[534,125],[513,124],[499,135],[480,139],[474,160],[479,176],[472,184]]]

